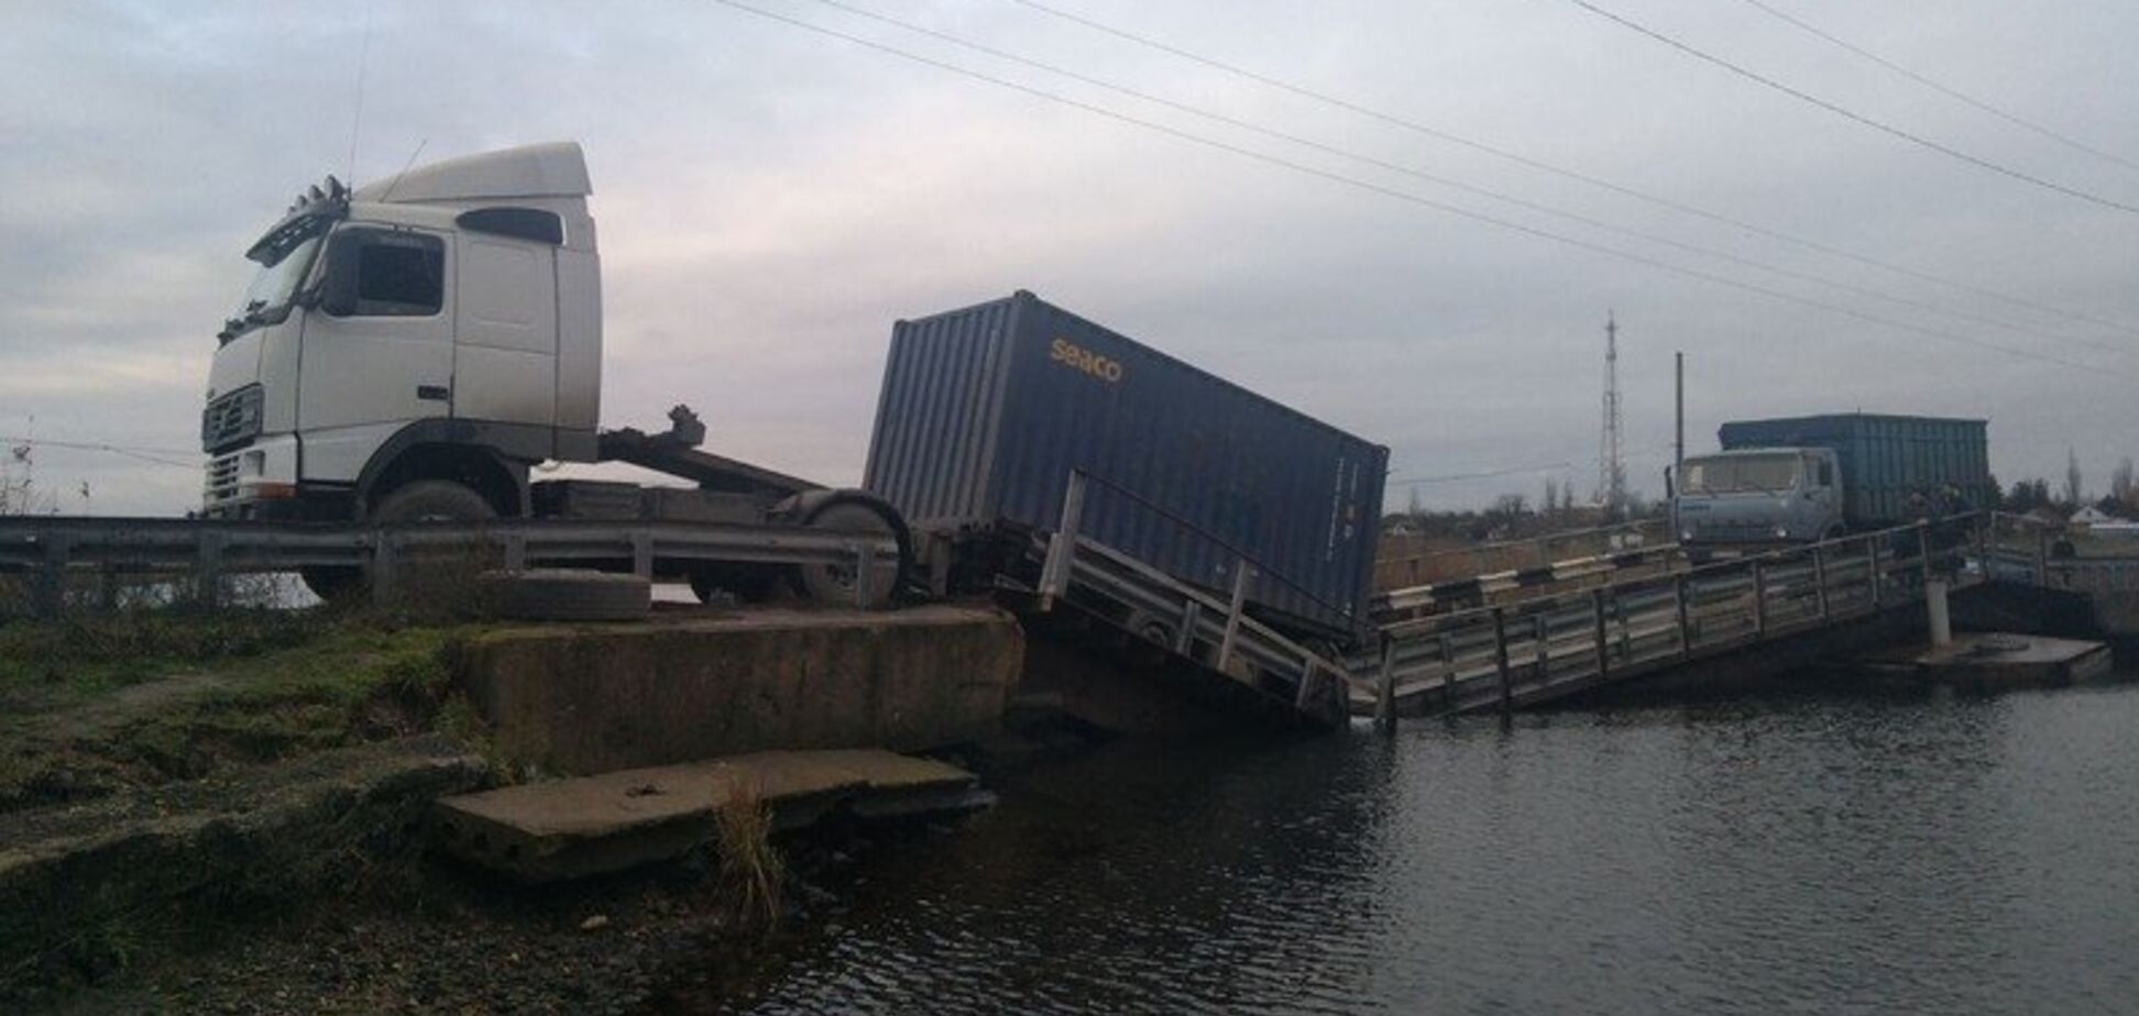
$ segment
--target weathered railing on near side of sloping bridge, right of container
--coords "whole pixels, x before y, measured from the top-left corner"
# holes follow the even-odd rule
[[[1343,661],[1382,714],[1512,710],[1919,601],[1927,580],[1989,582],[1991,515],[1645,575],[1525,603],[1397,620]],[[1968,560],[1976,567],[1970,569]]]

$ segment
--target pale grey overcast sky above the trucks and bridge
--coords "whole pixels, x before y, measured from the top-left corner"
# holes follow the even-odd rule
[[[1301,169],[714,2],[17,0],[0,34],[0,434],[175,462],[39,447],[34,479],[62,511],[195,505],[199,400],[252,267],[242,250],[297,190],[351,175],[355,122],[357,180],[419,145],[428,160],[582,141],[605,424],[661,426],[689,402],[708,447],[830,483],[860,479],[892,321],[1014,289],[1386,443],[1390,507],[1416,477],[1429,505],[1536,498],[1546,477],[1587,494],[1609,310],[1628,473],[1651,492],[1673,351],[1694,451],[1724,419],[1863,409],[1987,417],[2004,481],[2062,477],[2073,447],[2100,490],[2139,453],[2139,214],[1844,120],[1568,0],[1046,0],[1352,111],[1012,0],[849,4],[1320,148],[817,0],[747,2]],[[2139,4],[1765,2],[2107,156],[1745,0],[1596,0],[1859,116],[2139,205]],[[1523,473],[1437,479],[1508,468]]]

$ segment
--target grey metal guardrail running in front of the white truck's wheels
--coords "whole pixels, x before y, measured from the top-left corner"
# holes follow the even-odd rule
[[[214,603],[233,573],[349,567],[387,588],[411,556],[496,554],[505,569],[627,567],[652,578],[663,565],[764,563],[853,565],[856,603],[868,603],[875,563],[898,556],[890,537],[747,526],[729,522],[498,520],[483,524],[284,524],[175,518],[0,518],[0,573],[30,578],[39,612],[64,605],[75,578],[92,575],[109,599],[113,580],[156,575],[193,582]]]

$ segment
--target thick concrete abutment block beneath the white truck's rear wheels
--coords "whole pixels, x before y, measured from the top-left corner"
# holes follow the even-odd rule
[[[749,610],[488,631],[468,640],[460,684],[503,755],[590,774],[982,740],[1022,667],[1025,635],[995,607]]]

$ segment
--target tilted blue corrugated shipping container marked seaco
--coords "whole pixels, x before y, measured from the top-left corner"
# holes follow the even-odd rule
[[[1080,530],[1296,631],[1365,622],[1388,449],[1018,291],[901,321],[864,488],[915,528]]]

